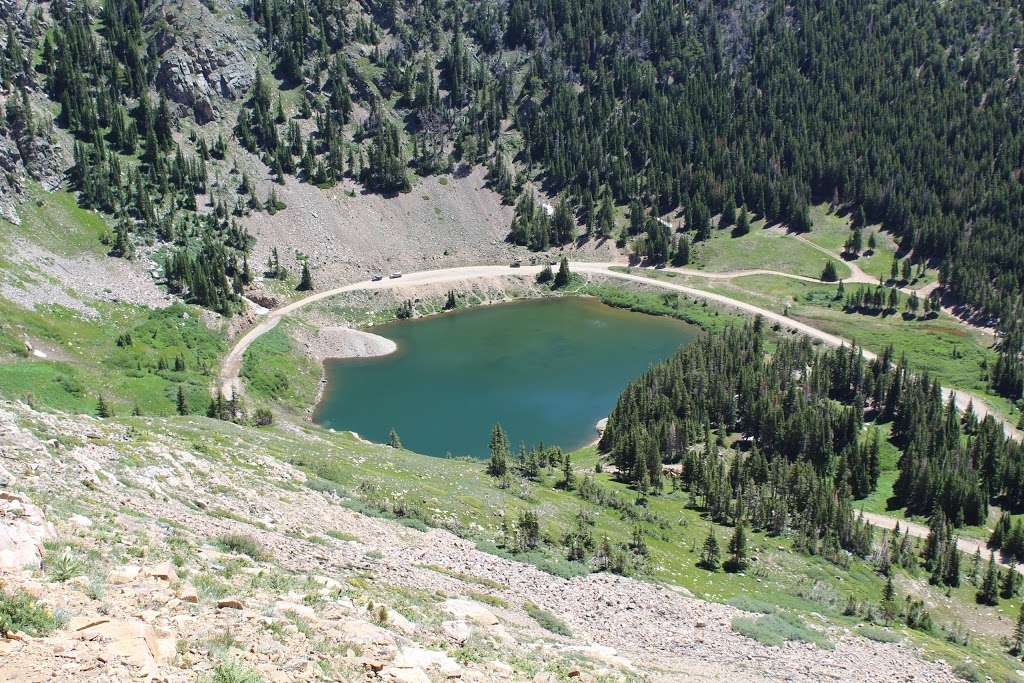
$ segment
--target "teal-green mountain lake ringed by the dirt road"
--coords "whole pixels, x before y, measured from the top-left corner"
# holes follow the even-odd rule
[[[697,328],[585,298],[536,299],[378,326],[398,350],[326,364],[313,419],[407,449],[485,457],[500,422],[518,447],[596,438],[626,384]]]

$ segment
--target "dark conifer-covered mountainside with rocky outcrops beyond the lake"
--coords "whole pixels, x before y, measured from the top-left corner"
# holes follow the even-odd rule
[[[254,196],[242,147],[267,177],[384,194],[485,164],[517,204],[510,239],[538,249],[623,223],[664,258],[680,238],[647,215],[701,240],[737,211],[805,230],[827,200],[941,264],[976,312],[1018,315],[1013,3],[60,0],[0,14],[5,169],[44,175],[31,140],[72,134],[69,179],[115,218],[112,253],[176,245],[172,285],[223,312],[251,274],[234,219],[284,208]],[[217,120],[206,136],[183,125]],[[532,186],[560,197],[552,215]]]

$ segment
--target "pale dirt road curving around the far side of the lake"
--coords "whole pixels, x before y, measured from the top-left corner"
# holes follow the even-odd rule
[[[730,308],[740,310],[754,315],[761,315],[764,319],[778,324],[779,327],[785,328],[787,330],[793,330],[800,334],[807,335],[812,339],[820,340],[822,343],[828,344],[829,346],[849,346],[852,342],[843,337],[829,334],[814,328],[806,323],[801,323],[800,321],[795,321],[793,318],[786,317],[780,313],[768,310],[767,308],[761,308],[760,306],[755,306],[754,304],[745,303],[743,301],[738,301],[730,297],[724,296],[722,294],[716,294],[714,292],[706,292],[694,287],[687,287],[685,285],[677,285],[675,283],[668,283],[662,280],[655,280],[653,278],[647,278],[644,275],[635,274],[633,272],[624,272],[622,270],[612,270],[613,266],[621,267],[620,263],[599,263],[599,262],[587,262],[587,261],[573,261],[570,264],[570,269],[575,273],[585,273],[589,275],[599,275],[602,278],[609,278],[614,280],[622,280],[628,282],[639,283],[648,287],[653,287],[656,289],[669,290],[672,292],[678,292],[680,294],[686,294],[696,299],[703,299],[706,301],[713,301],[715,303],[728,306]],[[344,294],[346,292],[355,292],[360,290],[391,290],[391,289],[408,289],[414,287],[420,287],[423,285],[436,285],[443,283],[459,282],[464,280],[474,280],[477,278],[495,278],[495,276],[509,276],[509,275],[522,275],[522,274],[537,274],[541,271],[543,266],[540,265],[523,265],[518,268],[511,268],[508,265],[472,265],[472,266],[462,266],[455,268],[440,268],[437,270],[421,270],[418,272],[411,272],[409,274],[402,275],[397,279],[386,279],[377,282],[364,281],[359,283],[352,283],[351,285],[345,285],[343,287],[337,287],[331,290],[325,290],[323,292],[316,292],[307,297],[293,301],[290,304],[275,308],[268,313],[266,316],[260,321],[252,330],[247,332],[241,339],[239,339],[231,350],[227,353],[224,358],[224,362],[221,366],[219,387],[224,395],[230,395],[231,392],[241,391],[241,383],[239,379],[239,373],[242,369],[242,359],[245,356],[246,349],[259,339],[260,336],[272,330],[281,318],[292,313],[304,306],[308,306],[311,303],[317,301],[323,301],[325,299],[330,299],[338,294]],[[682,272],[684,274],[693,274],[700,276],[709,276],[709,273],[700,272],[697,270],[688,270],[685,268],[673,268],[676,272]],[[759,270],[746,270],[746,271],[735,271],[731,273],[721,273],[719,276],[740,276],[744,274],[759,274],[771,272],[771,274],[781,274],[790,278],[795,278],[798,280],[805,280],[801,275],[793,275],[790,273],[776,273],[772,271],[759,271]],[[714,276],[714,275],[713,275]],[[812,282],[813,279],[806,279]],[[867,359],[873,359],[874,353],[861,349],[864,357]],[[975,414],[979,417],[984,417],[989,414],[989,409],[978,396],[975,396],[966,391],[952,390],[948,388],[943,388],[943,395],[948,398],[952,395],[955,398],[957,407],[964,410],[969,403],[973,401]],[[1009,424],[1006,420],[1002,420],[998,415],[994,415],[997,420],[999,420],[1006,430],[1007,434],[1012,438],[1017,440],[1021,439],[1020,430],[1016,429],[1014,426]],[[864,518],[876,526],[892,528],[897,521],[895,517],[890,517],[888,515],[882,515],[877,513],[863,512]],[[910,536],[926,538],[928,536],[928,527],[914,522],[907,522],[906,520],[899,520],[900,527],[903,529],[909,529]],[[968,553],[974,553],[976,548],[982,547],[983,544],[979,544],[976,541],[970,539],[961,539],[959,547],[962,550]],[[982,549],[982,552],[983,549]],[[1022,570],[1024,573],[1024,567],[1018,567],[1018,570]]]

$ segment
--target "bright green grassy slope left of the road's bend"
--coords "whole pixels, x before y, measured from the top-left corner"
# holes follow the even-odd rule
[[[0,221],[0,244],[17,238],[57,254],[105,254],[100,238],[109,231],[106,224],[94,212],[79,209],[69,193],[34,189],[20,213],[19,226]],[[7,267],[2,260],[0,265]],[[61,306],[27,310],[0,299],[0,396],[92,413],[103,394],[120,413],[137,405],[147,415],[170,415],[181,386],[190,410],[205,412],[208,387],[226,344],[221,333],[203,322],[200,309],[91,305],[98,312],[95,317]],[[132,343],[119,346],[124,333],[131,334]],[[27,341],[46,348],[50,357],[29,355]],[[183,371],[174,370],[178,356],[185,362]]]

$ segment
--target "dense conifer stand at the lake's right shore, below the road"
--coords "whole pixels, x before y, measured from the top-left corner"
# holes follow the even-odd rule
[[[902,453],[897,507],[938,510],[959,526],[983,523],[990,503],[1024,506],[1021,446],[993,418],[957,412],[891,351],[867,361],[855,347],[819,351],[783,339],[768,354],[760,319],[637,379],[600,447],[641,490],[660,488],[663,465],[680,463],[683,484],[713,517],[745,514],[756,527],[796,525],[846,547],[851,501],[878,483],[884,424]],[[720,446],[730,435],[741,455],[728,461]],[[837,514],[846,521],[837,525]]]

